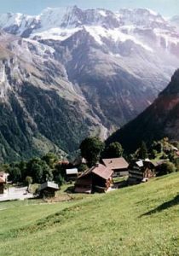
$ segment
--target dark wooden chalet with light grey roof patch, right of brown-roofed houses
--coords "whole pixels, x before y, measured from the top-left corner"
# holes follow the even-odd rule
[[[148,178],[155,177],[155,170],[158,166],[151,160],[137,160],[130,165],[129,184],[141,183],[147,181]]]

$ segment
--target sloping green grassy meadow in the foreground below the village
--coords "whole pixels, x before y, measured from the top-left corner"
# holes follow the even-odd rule
[[[179,173],[69,202],[0,204],[0,255],[179,255]]]

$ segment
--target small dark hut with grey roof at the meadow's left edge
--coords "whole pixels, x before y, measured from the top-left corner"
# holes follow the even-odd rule
[[[59,186],[53,182],[43,183],[38,189],[38,193],[41,197],[54,197],[55,192],[59,190]]]

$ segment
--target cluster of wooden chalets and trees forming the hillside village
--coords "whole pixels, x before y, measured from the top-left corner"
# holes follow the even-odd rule
[[[96,140],[96,138],[90,139],[92,142],[93,140]],[[86,140],[89,140],[89,138]],[[84,149],[83,143],[85,146]],[[152,154],[155,154],[155,156],[157,155],[157,158],[155,157],[153,160],[148,157],[145,158],[148,156],[145,145],[136,151],[136,155],[132,155],[131,160],[126,160],[124,156],[100,158],[101,144],[100,147],[97,145],[97,154],[91,157],[90,154],[94,154],[96,145],[94,145],[93,150],[91,150],[91,145],[90,148],[88,148],[88,145],[85,144],[85,140],[83,143],[81,144],[82,155],[73,160],[73,162],[68,160],[58,161],[58,158],[54,154],[47,154],[44,156],[43,160],[46,159],[46,162],[49,163],[49,166],[51,166],[52,169],[47,170],[48,165],[40,166],[43,168],[41,171],[46,170],[46,172],[44,177],[42,176],[41,179],[36,179],[36,189],[32,189],[32,187],[34,187],[32,184],[34,177],[27,176],[26,183],[18,183],[17,166],[9,168],[10,173],[0,172],[0,201],[25,200],[32,198],[43,198],[45,200],[48,198],[55,198],[56,196],[59,197],[59,200],[61,201],[61,196],[58,196],[58,191],[61,191],[61,185],[64,183],[66,183],[66,195],[77,193],[107,193],[114,189],[121,189],[126,186],[145,183],[153,177],[177,171],[176,166],[170,162],[170,158],[172,156],[172,160],[177,164],[179,151],[178,148],[170,144],[167,139],[155,143],[155,149]],[[158,148],[159,152],[157,152],[156,148]],[[120,155],[123,150],[121,149],[120,144],[113,143],[113,145],[110,145],[106,151],[106,155]],[[140,151],[142,152],[140,153]],[[144,156],[143,159],[137,158],[139,154]],[[86,156],[86,159],[83,155]],[[165,159],[162,159],[162,157],[165,157]],[[31,168],[34,168],[35,175],[37,176],[36,172],[41,172],[38,170],[39,160],[35,159],[31,161]],[[22,165],[22,163],[20,163],[20,165]],[[29,164],[27,164],[27,166],[28,165]],[[14,170],[16,172],[14,172]],[[61,177],[60,182],[58,182],[59,173]],[[19,179],[22,180],[22,173],[19,174]],[[69,198],[71,197],[67,197],[67,200],[69,200]]]

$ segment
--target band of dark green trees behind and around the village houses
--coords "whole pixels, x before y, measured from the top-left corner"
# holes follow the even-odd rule
[[[48,153],[41,158],[35,157],[30,160],[21,160],[1,166],[5,172],[9,173],[9,180],[13,183],[44,183],[54,181],[61,185],[66,182],[66,168],[78,167],[79,172],[84,172],[87,168],[94,166],[103,158],[117,158],[124,156],[129,162],[134,160],[167,160],[159,168],[159,175],[179,170],[179,158],[175,151],[171,150],[178,146],[177,142],[171,144],[167,138],[158,142],[154,141],[150,147],[141,142],[141,147],[134,154],[124,153],[122,145],[118,142],[106,145],[98,137],[87,137],[79,146],[80,157],[86,160],[86,164],[73,164],[61,160],[61,156]]]

